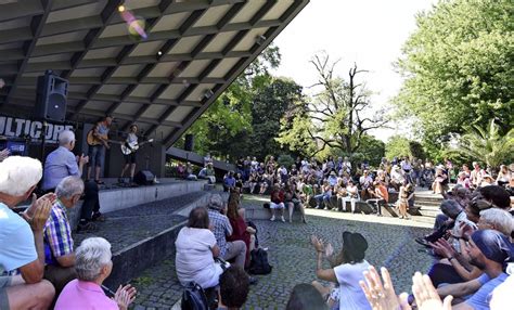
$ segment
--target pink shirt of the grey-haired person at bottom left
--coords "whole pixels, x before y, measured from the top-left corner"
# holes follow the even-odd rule
[[[118,305],[105,296],[93,282],[74,280],[66,284],[57,298],[55,310],[118,310]]]

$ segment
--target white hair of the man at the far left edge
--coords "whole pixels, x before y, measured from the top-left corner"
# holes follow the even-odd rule
[[[0,193],[22,196],[42,177],[41,162],[30,157],[10,156],[0,163]]]

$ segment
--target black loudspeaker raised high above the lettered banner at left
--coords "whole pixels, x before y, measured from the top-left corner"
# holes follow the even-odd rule
[[[68,81],[47,70],[38,77],[36,117],[47,120],[66,120]]]

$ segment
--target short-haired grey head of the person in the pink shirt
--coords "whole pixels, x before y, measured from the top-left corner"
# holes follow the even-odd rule
[[[75,253],[75,270],[81,281],[92,282],[99,279],[102,268],[112,258],[111,244],[103,237],[89,237]]]

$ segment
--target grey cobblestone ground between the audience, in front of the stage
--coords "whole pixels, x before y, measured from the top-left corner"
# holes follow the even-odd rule
[[[247,204],[261,204],[245,201]],[[340,248],[342,232],[349,230],[362,233],[369,242],[367,260],[376,267],[389,269],[397,293],[409,290],[415,271],[427,271],[432,260],[414,242],[415,236],[429,231],[411,227],[412,221],[351,216],[322,210],[307,210],[307,224],[255,221],[261,247],[268,248],[273,271],[259,275],[259,283],[252,286],[245,309],[284,309],[291,289],[298,283],[314,280],[314,258],[309,237],[312,234]],[[346,217],[346,218],[345,218]],[[354,218],[351,218],[354,217]],[[139,294],[133,309],[170,309],[181,296],[174,257],[147,269],[133,281]]]

